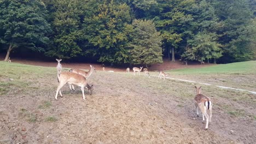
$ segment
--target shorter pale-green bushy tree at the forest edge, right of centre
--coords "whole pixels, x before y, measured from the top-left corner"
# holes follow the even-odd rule
[[[134,20],[134,31],[130,43],[133,64],[162,63],[160,33],[156,31],[151,20]]]

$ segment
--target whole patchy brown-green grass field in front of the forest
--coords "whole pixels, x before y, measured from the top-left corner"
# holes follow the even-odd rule
[[[196,83],[97,71],[88,79],[95,90],[92,95],[85,93],[85,101],[80,88],[69,91],[67,85],[62,88],[63,98],[59,95],[56,101],[56,68],[6,62],[0,65],[0,143],[256,140],[256,96],[251,93],[202,86],[202,93],[213,100],[213,122],[206,133],[193,103]],[[244,62],[167,73],[181,79],[254,89],[254,66],[254,62]],[[247,85],[242,85],[245,81]]]

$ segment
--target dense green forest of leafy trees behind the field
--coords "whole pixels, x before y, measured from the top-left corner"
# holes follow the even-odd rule
[[[0,0],[0,53],[108,64],[256,59],[254,0]]]

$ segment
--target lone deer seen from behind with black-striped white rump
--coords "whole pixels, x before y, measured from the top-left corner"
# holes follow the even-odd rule
[[[201,86],[196,87],[196,96],[195,96],[195,106],[196,106],[196,114],[199,117],[198,107],[202,112],[203,123],[205,123],[206,118],[206,126],[205,130],[208,129],[208,122],[212,122],[212,101],[210,98],[206,97],[205,95],[201,94]],[[207,114],[207,110],[210,111],[210,116]]]

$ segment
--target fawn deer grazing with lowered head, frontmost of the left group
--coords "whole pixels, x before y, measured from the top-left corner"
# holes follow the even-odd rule
[[[71,73],[69,71],[64,71],[62,72],[60,75],[58,75],[58,81],[59,81],[59,86],[57,88],[56,91],[56,95],[55,95],[55,99],[57,99],[58,93],[60,93],[61,97],[62,97],[62,93],[61,93],[61,88],[68,83],[69,85],[76,85],[81,87],[81,91],[83,93],[83,99],[85,100],[85,96],[84,96],[84,88],[87,88],[89,91],[89,94],[92,94],[92,91],[94,90],[93,85],[89,85],[86,82],[86,79],[84,76],[79,75],[79,74],[75,74],[75,73]]]

